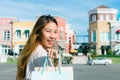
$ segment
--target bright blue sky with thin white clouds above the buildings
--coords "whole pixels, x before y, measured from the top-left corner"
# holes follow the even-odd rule
[[[0,0],[0,17],[35,20],[51,14],[64,17],[77,35],[87,35],[88,11],[100,5],[120,11],[120,0]]]

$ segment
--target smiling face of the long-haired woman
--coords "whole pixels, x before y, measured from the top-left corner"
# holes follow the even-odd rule
[[[50,22],[42,29],[42,40],[40,44],[45,49],[50,48],[53,46],[56,38],[57,38],[57,25],[54,22]]]

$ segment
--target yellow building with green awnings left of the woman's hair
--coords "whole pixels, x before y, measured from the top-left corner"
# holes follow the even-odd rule
[[[24,48],[33,29],[35,21],[14,21],[12,31],[12,48],[17,54]]]

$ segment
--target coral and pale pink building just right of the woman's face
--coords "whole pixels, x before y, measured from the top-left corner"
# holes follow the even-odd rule
[[[55,16],[58,22],[58,46],[65,49],[64,53],[69,53],[75,42],[75,33],[70,28],[67,28],[66,19]]]

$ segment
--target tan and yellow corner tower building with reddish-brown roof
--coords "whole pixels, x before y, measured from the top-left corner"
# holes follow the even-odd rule
[[[92,50],[98,55],[106,55],[106,49],[110,48],[110,21],[116,21],[117,9],[101,5],[88,12],[89,14],[89,43]]]

